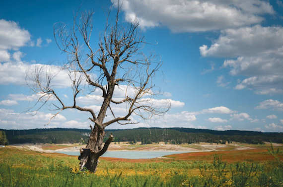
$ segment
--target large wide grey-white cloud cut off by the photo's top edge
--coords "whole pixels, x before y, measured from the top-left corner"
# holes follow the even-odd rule
[[[117,6],[118,0],[111,0]],[[141,27],[166,26],[173,32],[197,32],[235,28],[261,22],[262,14],[274,14],[263,0],[124,0],[128,22]]]

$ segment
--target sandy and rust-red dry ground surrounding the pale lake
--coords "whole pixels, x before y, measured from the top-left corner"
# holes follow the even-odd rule
[[[78,144],[23,144],[23,145],[12,145],[9,147],[15,147],[17,149],[23,150],[32,150],[34,154],[44,154],[50,157],[56,156],[70,156],[59,153],[54,153],[55,151],[78,151],[80,147],[85,145]],[[273,146],[277,149],[283,150],[283,144],[274,143]],[[227,145],[223,144],[209,144],[209,143],[200,143],[200,144],[182,144],[182,145],[171,145],[171,144],[149,144],[149,145],[131,145],[123,142],[111,143],[108,150],[143,150],[143,151],[200,151],[200,152],[191,152],[191,153],[182,153],[167,155],[164,158],[154,158],[154,159],[122,159],[122,158],[109,158],[102,157],[102,160],[108,160],[112,162],[171,162],[173,160],[204,160],[204,161],[213,161],[213,156],[215,154],[221,155],[222,159],[227,162],[259,162],[274,160],[274,157],[268,153],[268,148],[270,144],[266,143],[264,145],[252,145],[252,144],[241,144],[241,143],[231,143]],[[36,152],[35,152],[36,151]],[[207,151],[207,152],[204,152]],[[76,157],[76,156],[74,156]],[[283,155],[279,155],[280,159],[283,160]]]

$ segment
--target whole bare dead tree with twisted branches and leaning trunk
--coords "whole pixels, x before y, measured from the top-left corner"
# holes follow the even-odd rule
[[[89,120],[92,124],[91,134],[87,145],[80,150],[80,169],[86,168],[91,172],[96,171],[98,158],[103,155],[111,141],[111,134],[103,146],[105,127],[113,123],[121,125],[134,124],[130,116],[147,119],[152,115],[162,115],[168,111],[170,104],[155,106],[152,100],[156,94],[152,84],[152,77],[159,69],[161,62],[152,61],[153,56],[145,56],[141,52],[142,45],[145,45],[143,37],[139,34],[139,23],[134,22],[127,26],[122,26],[119,22],[119,7],[115,18],[111,24],[111,13],[96,49],[91,45],[93,12],[83,13],[82,16],[75,17],[70,29],[65,24],[56,24],[54,27],[55,41],[64,53],[68,54],[68,62],[64,70],[68,70],[72,82],[72,104],[66,105],[62,98],[52,87],[54,76],[47,74],[43,76],[43,67],[35,69],[27,77],[33,80],[31,89],[40,94],[38,99],[39,109],[51,102],[50,106],[57,113],[66,109],[76,109],[89,113]],[[96,76],[93,76],[93,75]],[[95,78],[93,78],[95,77]],[[114,89],[123,85],[125,97],[119,100],[113,97]],[[103,102],[100,110],[95,112],[91,108],[78,106],[77,97],[83,94],[85,89],[90,92],[100,90]],[[127,90],[134,90],[134,94],[127,93]],[[111,106],[117,105],[126,108],[123,116],[116,116]],[[106,112],[111,112],[112,118],[106,121]],[[103,146],[103,147],[102,147]]]

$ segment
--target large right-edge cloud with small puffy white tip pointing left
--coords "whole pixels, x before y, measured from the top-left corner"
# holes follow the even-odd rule
[[[259,40],[259,38],[261,40]],[[238,29],[225,29],[221,31],[213,44],[200,47],[202,56],[238,57],[250,56],[267,51],[282,53],[283,28],[280,26],[242,27]],[[244,67],[242,67],[244,68]]]

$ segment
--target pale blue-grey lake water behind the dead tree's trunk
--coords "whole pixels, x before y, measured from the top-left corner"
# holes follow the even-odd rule
[[[79,155],[76,151],[56,151],[57,153],[63,153],[67,155]],[[114,157],[114,158],[156,158],[171,154],[188,153],[195,151],[107,151],[102,157]]]

